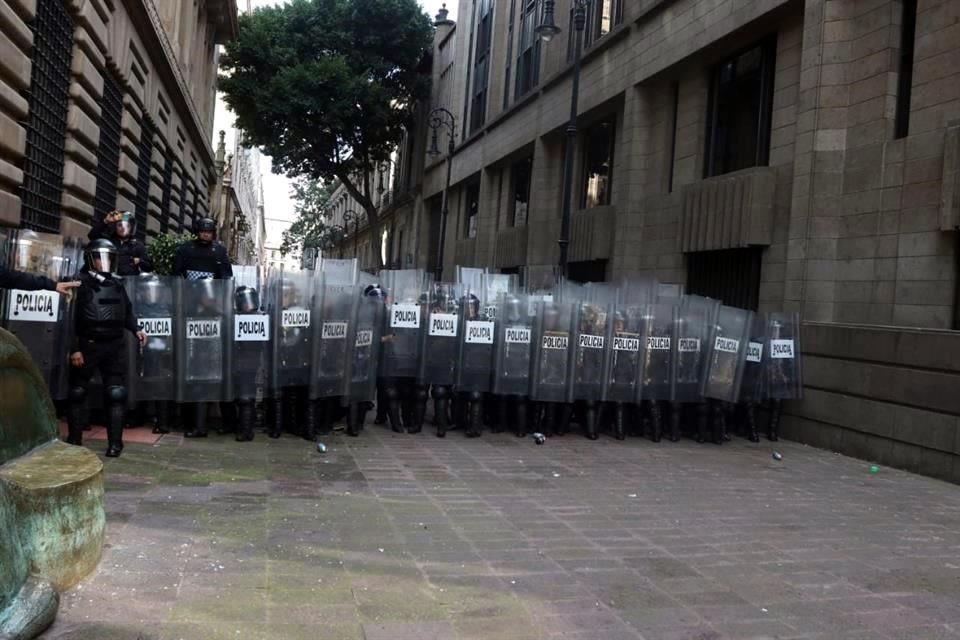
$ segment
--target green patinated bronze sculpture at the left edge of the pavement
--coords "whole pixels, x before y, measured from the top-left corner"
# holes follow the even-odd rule
[[[103,464],[56,439],[53,402],[0,329],[0,638],[33,638],[103,550]]]

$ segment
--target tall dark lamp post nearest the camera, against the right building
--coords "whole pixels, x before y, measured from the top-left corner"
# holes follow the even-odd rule
[[[567,275],[567,248],[570,245],[570,214],[573,200],[573,155],[577,148],[577,110],[580,102],[580,58],[583,53],[583,31],[587,24],[587,4],[592,0],[573,0],[573,89],[570,94],[570,120],[567,122],[567,144],[563,165],[563,209],[560,218],[560,275]],[[562,32],[553,19],[555,0],[544,0],[543,21],[537,25],[537,35],[544,42]]]

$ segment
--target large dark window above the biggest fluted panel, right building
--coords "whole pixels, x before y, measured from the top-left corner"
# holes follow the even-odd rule
[[[724,60],[713,70],[705,176],[767,164],[776,40]]]

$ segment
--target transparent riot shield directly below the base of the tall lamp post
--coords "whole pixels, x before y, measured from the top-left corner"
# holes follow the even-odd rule
[[[531,397],[543,402],[570,402],[573,385],[574,322],[577,303],[557,299],[537,304]]]

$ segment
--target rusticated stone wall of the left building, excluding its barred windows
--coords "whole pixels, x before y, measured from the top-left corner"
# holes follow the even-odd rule
[[[167,225],[178,228],[181,211],[208,211],[213,178],[214,44],[235,33],[231,28],[235,29],[236,3],[190,0],[190,11],[182,14],[169,11],[172,2],[160,3],[167,19],[177,21],[176,28],[169,23],[165,28],[154,0],[0,0],[0,126],[5,141],[0,145],[0,222],[21,224],[19,188],[27,149],[20,123],[29,115],[23,96],[30,90],[33,52],[33,34],[27,25],[38,5],[43,8],[51,2],[67,8],[74,27],[59,232],[86,235],[95,213],[104,77],[108,74],[115,77],[122,92],[113,206],[135,208],[142,166],[150,172],[139,187],[141,192],[146,188],[149,235]],[[183,31],[186,25],[191,25],[192,34]],[[148,156],[141,144],[145,125],[153,131]],[[169,182],[165,175],[168,158],[175,160],[170,164]],[[168,201],[169,208],[161,211]],[[187,215],[184,223],[189,222]]]

